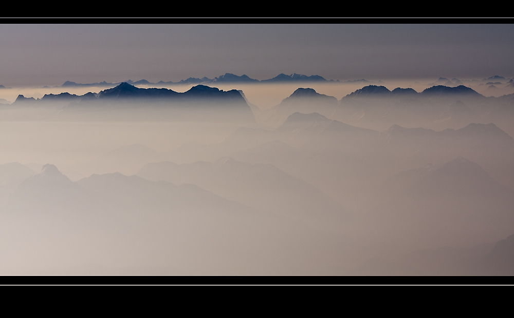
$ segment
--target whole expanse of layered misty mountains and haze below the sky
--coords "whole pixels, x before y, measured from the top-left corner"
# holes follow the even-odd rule
[[[511,78],[231,75],[0,90],[0,274],[514,274]]]

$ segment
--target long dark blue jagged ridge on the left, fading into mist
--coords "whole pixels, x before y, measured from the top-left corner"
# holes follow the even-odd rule
[[[204,85],[179,93],[166,88],[145,89],[121,83],[99,93],[81,96],[47,94],[34,100],[20,95],[12,107],[50,108],[46,116],[38,118],[46,120],[255,123],[250,106],[240,92]]]

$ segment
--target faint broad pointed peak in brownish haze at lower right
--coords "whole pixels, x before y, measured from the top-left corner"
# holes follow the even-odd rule
[[[391,180],[392,181],[392,180]],[[384,185],[385,188],[393,184]],[[378,205],[377,226],[411,242],[458,246],[505,237],[514,228],[514,192],[463,158],[430,169]],[[379,225],[380,224],[380,225]]]

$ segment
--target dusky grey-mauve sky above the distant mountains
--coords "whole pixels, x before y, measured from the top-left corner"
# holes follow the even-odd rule
[[[112,21],[111,21],[112,22]],[[514,76],[514,25],[0,25],[0,84]]]

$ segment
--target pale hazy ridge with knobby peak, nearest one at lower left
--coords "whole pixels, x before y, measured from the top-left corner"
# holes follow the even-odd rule
[[[170,268],[170,274],[341,273],[340,237],[194,185],[119,173],[70,182],[55,166],[0,213],[0,270]],[[319,255],[323,256],[322,261]],[[341,262],[342,261],[342,262]],[[61,272],[62,273],[62,272]]]

